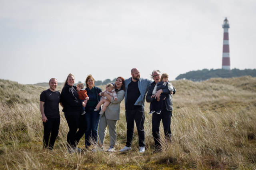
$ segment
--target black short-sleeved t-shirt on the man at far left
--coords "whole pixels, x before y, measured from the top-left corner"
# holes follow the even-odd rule
[[[60,117],[59,103],[60,92],[50,91],[47,89],[40,95],[40,101],[44,102],[44,114],[46,117],[58,118]]]

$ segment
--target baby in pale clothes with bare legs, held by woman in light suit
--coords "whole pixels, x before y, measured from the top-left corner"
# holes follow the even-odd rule
[[[110,96],[114,98],[115,101],[117,101],[117,95],[116,95],[114,85],[110,83],[107,85],[106,90],[99,94],[100,96],[102,96],[102,99],[94,109],[94,111],[98,111],[100,109],[100,106],[103,104],[102,110],[99,113],[100,115],[104,113],[104,111],[106,110],[106,107],[110,104],[110,100],[108,99],[108,97],[104,96],[104,93],[108,93]]]

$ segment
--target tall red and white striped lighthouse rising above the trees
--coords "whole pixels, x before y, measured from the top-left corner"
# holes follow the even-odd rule
[[[222,53],[222,69],[230,70],[230,57],[229,57],[229,42],[228,42],[228,20],[227,18],[224,20],[222,25],[224,29],[224,36],[223,36],[223,53]]]

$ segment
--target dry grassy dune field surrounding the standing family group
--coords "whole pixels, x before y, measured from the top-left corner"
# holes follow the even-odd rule
[[[138,152],[135,128],[126,153],[86,151],[67,154],[68,125],[61,123],[54,150],[42,149],[39,95],[47,89],[0,80],[0,169],[256,169],[256,78],[179,80],[173,96],[172,144],[153,153],[151,117],[145,114],[147,149]],[[62,87],[58,87],[59,90]],[[145,103],[145,112],[149,111]],[[126,142],[124,101],[116,150]],[[161,126],[163,139],[163,129]],[[79,143],[84,147],[84,138]],[[107,134],[104,148],[109,147]]]

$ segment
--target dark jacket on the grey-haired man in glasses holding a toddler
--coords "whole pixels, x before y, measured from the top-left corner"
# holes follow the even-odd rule
[[[153,101],[153,99],[151,98],[152,96],[152,92],[154,90],[154,87],[155,87],[156,83],[155,82],[152,82],[149,86],[149,89],[148,89],[148,94],[146,96],[146,101],[148,103],[150,103],[150,110],[152,108],[152,105],[151,105],[151,102]],[[160,90],[160,89],[157,89],[157,90]],[[173,87],[173,94],[175,94],[176,92],[176,89]],[[162,89],[163,93],[165,94],[169,94],[168,97],[166,97],[166,99],[164,100],[164,104],[166,106],[166,110],[167,111],[172,111],[173,110],[173,107],[172,107],[172,95],[170,94],[170,91],[168,89]],[[163,104],[163,105],[164,105]]]

